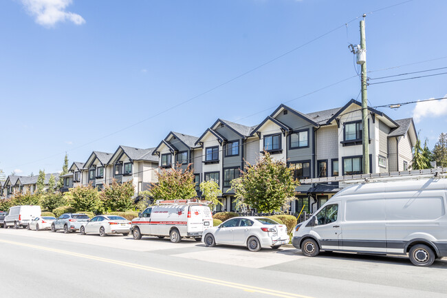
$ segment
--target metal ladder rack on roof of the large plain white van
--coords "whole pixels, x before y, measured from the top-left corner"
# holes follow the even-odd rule
[[[372,173],[358,175],[344,175],[335,177],[309,178],[301,179],[301,184],[325,183],[325,182],[344,182],[346,184],[362,182],[378,182],[392,180],[409,180],[420,178],[446,178],[447,167],[436,169],[422,169],[411,171],[395,171],[389,173]]]

